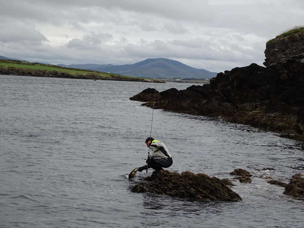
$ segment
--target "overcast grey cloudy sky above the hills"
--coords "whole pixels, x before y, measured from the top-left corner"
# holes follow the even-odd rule
[[[304,24],[303,0],[0,0],[0,55],[50,64],[164,57],[220,72],[262,65]]]

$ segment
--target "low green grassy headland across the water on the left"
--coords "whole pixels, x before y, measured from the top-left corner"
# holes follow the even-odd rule
[[[55,65],[29,63],[18,60],[0,60],[0,74],[24,75],[52,78],[78,78],[116,81],[145,81],[145,78],[130,77],[119,74],[105,73],[100,71],[82,70],[76,68],[60,67]],[[157,82],[164,82],[157,80]]]

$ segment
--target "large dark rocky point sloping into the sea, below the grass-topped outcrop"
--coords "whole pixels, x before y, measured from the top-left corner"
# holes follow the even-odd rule
[[[151,107],[154,91],[143,91],[130,99]],[[210,84],[162,91],[155,98],[155,108],[221,116],[304,141],[304,54],[266,68],[257,64],[236,67],[217,74]]]

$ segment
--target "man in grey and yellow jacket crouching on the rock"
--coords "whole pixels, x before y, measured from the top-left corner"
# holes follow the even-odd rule
[[[152,168],[155,169],[152,172],[152,176],[157,176],[161,170],[164,170],[163,168],[168,168],[172,165],[171,154],[164,143],[152,137],[148,137],[145,143],[152,150],[152,155],[147,159],[147,165],[138,168],[138,171],[141,172],[144,169]]]

